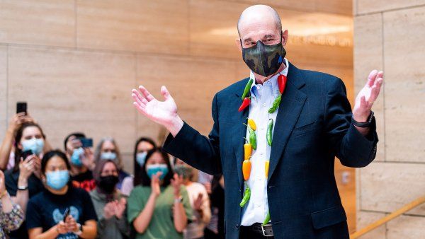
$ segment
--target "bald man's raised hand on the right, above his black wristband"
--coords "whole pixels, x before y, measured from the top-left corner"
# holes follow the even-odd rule
[[[358,122],[366,122],[370,115],[373,103],[378,98],[383,81],[383,72],[370,71],[368,81],[356,97],[353,108],[353,117]]]

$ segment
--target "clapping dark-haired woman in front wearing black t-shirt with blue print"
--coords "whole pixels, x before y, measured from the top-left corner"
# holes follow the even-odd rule
[[[88,192],[72,187],[67,156],[49,151],[41,163],[45,190],[31,198],[26,212],[30,239],[96,238],[96,212]]]

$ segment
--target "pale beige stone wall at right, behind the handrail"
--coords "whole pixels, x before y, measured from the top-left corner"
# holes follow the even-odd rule
[[[425,1],[356,0],[356,92],[372,69],[385,71],[375,111],[378,156],[357,172],[357,228],[425,192]],[[425,205],[363,238],[423,238]]]

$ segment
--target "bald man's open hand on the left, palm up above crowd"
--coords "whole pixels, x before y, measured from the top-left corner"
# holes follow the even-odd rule
[[[133,105],[142,115],[164,125],[175,136],[183,127],[183,120],[177,114],[176,102],[165,86],[161,87],[161,93],[164,101],[157,100],[145,87],[139,86],[138,91],[132,90]]]

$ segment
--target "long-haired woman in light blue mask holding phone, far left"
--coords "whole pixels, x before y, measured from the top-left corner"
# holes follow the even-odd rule
[[[28,200],[42,191],[41,160],[45,134],[34,122],[24,122],[15,134],[15,166],[5,173],[6,189],[24,214]],[[26,223],[9,234],[10,238],[28,238]]]

